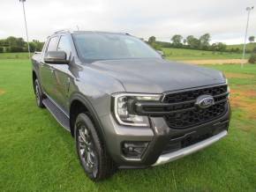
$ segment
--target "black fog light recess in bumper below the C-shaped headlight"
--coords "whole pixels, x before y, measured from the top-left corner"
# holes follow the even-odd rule
[[[141,158],[146,150],[148,142],[125,142],[122,151],[126,158]]]

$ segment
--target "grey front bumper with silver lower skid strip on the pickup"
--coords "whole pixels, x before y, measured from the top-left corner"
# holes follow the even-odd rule
[[[228,102],[229,104],[229,102]],[[151,129],[119,125],[111,114],[102,116],[106,145],[111,158],[119,167],[158,166],[199,151],[227,135],[230,122],[230,104],[222,117],[190,129],[170,129],[162,117],[151,117]],[[189,139],[210,134],[199,142],[183,145]],[[127,158],[122,152],[124,142],[148,142],[147,149],[139,159]],[[169,142],[176,148],[165,152]]]

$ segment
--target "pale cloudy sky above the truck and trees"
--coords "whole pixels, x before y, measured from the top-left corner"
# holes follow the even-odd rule
[[[26,37],[22,4],[0,0],[0,39]],[[211,34],[211,42],[243,43],[247,6],[255,0],[26,0],[30,40],[45,41],[61,30],[131,33],[170,41],[174,34]],[[256,7],[251,11],[248,36],[256,36]]]

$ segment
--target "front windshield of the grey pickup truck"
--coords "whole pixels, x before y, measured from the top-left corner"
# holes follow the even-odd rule
[[[77,33],[73,34],[79,57],[84,61],[161,58],[145,42],[125,34]]]

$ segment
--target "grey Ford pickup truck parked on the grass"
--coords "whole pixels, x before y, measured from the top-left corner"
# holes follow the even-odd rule
[[[93,181],[182,158],[228,133],[222,72],[166,61],[128,33],[59,31],[32,63],[38,107],[71,132]]]

